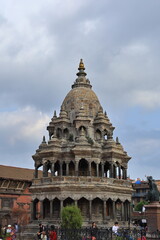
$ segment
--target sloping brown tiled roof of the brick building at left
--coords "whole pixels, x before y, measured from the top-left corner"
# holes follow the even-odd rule
[[[0,178],[31,181],[33,174],[34,169],[0,165]],[[39,174],[41,175],[42,172],[40,171]]]

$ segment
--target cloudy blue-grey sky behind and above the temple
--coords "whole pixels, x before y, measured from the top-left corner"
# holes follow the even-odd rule
[[[128,155],[160,179],[160,1],[0,1],[0,164],[33,168],[83,58]]]

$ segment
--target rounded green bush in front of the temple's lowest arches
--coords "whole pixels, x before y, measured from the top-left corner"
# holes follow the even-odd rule
[[[62,227],[77,229],[82,227],[80,209],[75,205],[69,205],[62,209]]]

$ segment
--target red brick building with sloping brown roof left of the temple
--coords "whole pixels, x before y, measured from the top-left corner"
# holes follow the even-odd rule
[[[23,209],[30,219],[32,169],[0,165],[0,224],[17,222],[13,209]]]

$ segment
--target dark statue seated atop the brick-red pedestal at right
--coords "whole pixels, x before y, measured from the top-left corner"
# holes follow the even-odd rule
[[[150,202],[159,201],[159,191],[158,191],[157,185],[155,183],[155,180],[152,178],[152,176],[148,176],[147,180],[148,180],[148,184],[149,184],[147,200]]]

